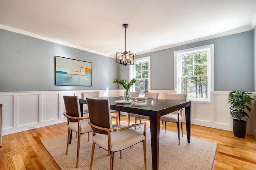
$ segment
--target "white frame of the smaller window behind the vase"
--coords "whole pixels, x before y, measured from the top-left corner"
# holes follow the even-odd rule
[[[136,63],[134,63],[134,65],[138,64],[138,63],[144,63],[144,62],[148,62],[148,91],[149,91],[149,90],[151,90],[150,56],[136,59]],[[129,81],[132,80],[133,78],[136,78],[135,66],[134,65],[129,65]],[[130,88],[130,91],[135,92],[135,86],[134,85]]]

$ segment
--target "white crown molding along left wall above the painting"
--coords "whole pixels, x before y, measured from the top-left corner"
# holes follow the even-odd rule
[[[99,53],[97,51],[86,49],[84,47],[80,47],[80,46],[77,46],[77,45],[73,45],[73,44],[66,43],[66,42],[63,42],[63,41],[59,41],[59,40],[56,40],[56,39],[52,39],[52,38],[49,38],[49,37],[44,37],[42,35],[30,33],[30,32],[23,31],[21,29],[16,29],[16,28],[13,28],[13,27],[9,27],[9,26],[6,26],[6,25],[0,24],[0,29],[5,29],[7,31],[12,31],[12,32],[23,34],[23,35],[27,35],[27,36],[30,36],[30,37],[42,39],[42,40],[45,40],[45,41],[50,41],[52,43],[57,43],[57,44],[65,45],[65,46],[72,47],[72,48],[75,48],[75,49],[80,49],[80,50],[83,50],[83,51],[88,51],[90,53],[95,53],[95,54],[98,54],[98,55],[103,55],[103,56],[106,56],[106,57],[112,57],[112,56],[109,56],[109,55],[106,55],[106,54],[103,54],[103,53]]]

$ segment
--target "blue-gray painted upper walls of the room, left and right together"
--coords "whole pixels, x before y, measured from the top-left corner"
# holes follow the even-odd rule
[[[174,51],[214,44],[215,91],[256,90],[255,31],[138,55],[151,56],[151,90],[174,90]],[[92,62],[92,87],[55,86],[54,56]],[[100,60],[100,63],[99,63]],[[114,59],[0,29],[0,92],[122,88],[128,66]]]

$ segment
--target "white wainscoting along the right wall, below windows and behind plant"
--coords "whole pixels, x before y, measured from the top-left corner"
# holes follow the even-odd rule
[[[159,99],[165,97],[165,93],[176,93],[174,90],[150,90],[158,92]],[[230,115],[230,104],[228,103],[228,94],[230,92],[210,92],[210,101],[191,101],[191,122],[194,125],[212,127],[233,131],[233,121]],[[252,92],[252,98],[256,99],[256,93]],[[249,113],[250,120],[247,121],[246,134],[256,136],[256,104],[252,101],[252,111]],[[185,122],[185,115],[182,115]]]

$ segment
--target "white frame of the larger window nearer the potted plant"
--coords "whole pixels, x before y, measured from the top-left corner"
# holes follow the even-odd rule
[[[208,76],[208,99],[202,98],[188,98],[189,100],[202,100],[202,101],[210,101],[210,92],[214,91],[214,44],[204,45],[201,47],[195,47],[191,49],[184,49],[180,51],[174,51],[174,89],[177,93],[181,93],[180,86],[180,74],[181,70],[181,62],[180,58],[182,55],[189,55],[192,53],[201,53],[207,51],[207,76]]]

